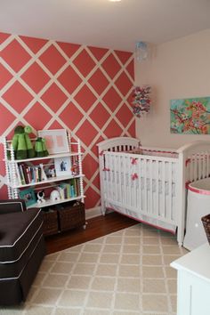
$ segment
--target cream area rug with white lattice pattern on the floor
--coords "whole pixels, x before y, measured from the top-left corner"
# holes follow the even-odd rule
[[[186,253],[172,234],[136,224],[46,255],[27,302],[0,314],[174,315],[169,263]]]

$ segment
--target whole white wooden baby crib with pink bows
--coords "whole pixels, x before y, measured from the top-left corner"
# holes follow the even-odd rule
[[[113,209],[175,233],[182,245],[186,185],[210,174],[210,141],[180,149],[141,147],[135,138],[98,143],[101,212]]]

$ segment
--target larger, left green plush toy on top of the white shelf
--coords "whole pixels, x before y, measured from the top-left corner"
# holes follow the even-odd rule
[[[14,135],[12,138],[12,147],[14,150],[14,157],[16,159],[34,158],[35,150],[28,136],[28,133],[32,132],[32,128],[27,125],[23,127],[18,125],[14,129]]]

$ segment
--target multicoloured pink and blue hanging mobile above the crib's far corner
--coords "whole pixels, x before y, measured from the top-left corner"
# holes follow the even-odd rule
[[[142,117],[149,113],[151,87],[149,85],[136,86],[133,93],[133,114]]]

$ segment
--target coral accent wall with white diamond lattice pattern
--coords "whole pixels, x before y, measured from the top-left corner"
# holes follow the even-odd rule
[[[85,207],[100,205],[99,141],[135,136],[133,53],[0,33],[0,198],[4,136],[16,125],[67,128],[82,143]]]

